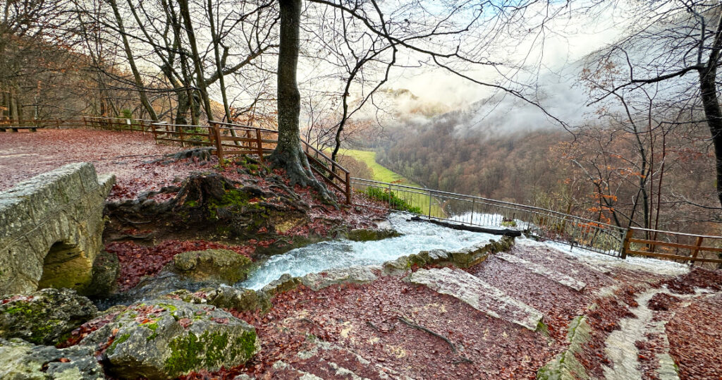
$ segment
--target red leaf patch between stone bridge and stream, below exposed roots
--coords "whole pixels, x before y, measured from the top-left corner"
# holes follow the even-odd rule
[[[163,241],[157,246],[140,246],[132,241],[115,241],[105,245],[105,251],[118,255],[120,275],[118,290],[125,291],[147,276],[157,275],[173,256],[187,251],[203,251],[205,249],[230,249],[243,256],[251,257],[255,246],[228,246],[212,241]]]

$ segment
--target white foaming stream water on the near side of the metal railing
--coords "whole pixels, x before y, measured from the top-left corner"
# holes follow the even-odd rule
[[[293,249],[286,254],[271,257],[251,273],[248,280],[238,285],[258,290],[284,273],[300,277],[327,269],[381,264],[420,251],[454,251],[499,238],[489,233],[452,230],[432,223],[407,222],[408,217],[396,213],[388,217],[392,228],[403,236],[380,241],[324,241]]]

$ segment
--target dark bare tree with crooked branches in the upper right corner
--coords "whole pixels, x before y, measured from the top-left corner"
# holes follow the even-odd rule
[[[596,55],[592,70],[614,66],[608,85],[596,102],[620,90],[644,90],[664,84],[667,98],[701,105],[710,131],[717,198],[722,204],[722,109],[717,70],[722,51],[722,5],[713,1],[678,0],[639,3],[631,33]],[[695,74],[690,77],[687,74]]]

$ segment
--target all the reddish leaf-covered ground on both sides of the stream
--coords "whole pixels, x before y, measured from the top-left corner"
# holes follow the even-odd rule
[[[248,165],[218,168],[217,161],[160,160],[180,147],[156,145],[150,135],[85,130],[40,130],[0,134],[0,190],[66,163],[89,161],[99,173],[114,173],[118,181],[110,200],[134,199],[147,191],[178,186],[193,171],[216,171],[239,183],[253,183],[266,191],[271,183],[247,170]],[[155,162],[154,162],[155,161]],[[258,169],[256,169],[258,170]],[[282,170],[268,174],[283,176]],[[287,182],[286,182],[287,183]],[[274,190],[277,191],[277,190]],[[293,236],[325,236],[334,224],[350,228],[372,225],[382,212],[362,207],[338,210],[320,204],[313,191],[294,191],[308,205],[310,223],[284,232]],[[175,194],[150,197],[166,201]],[[205,240],[144,242],[147,231],[123,232],[128,238],[106,242],[121,263],[118,285],[127,290],[153,276],[175,254],[206,248],[227,248],[253,256],[268,240],[235,243]],[[586,283],[581,292],[534,274],[518,264],[490,256],[466,269],[510,297],[544,314],[546,331],[531,332],[503,319],[477,311],[448,295],[411,285],[403,276],[380,276],[364,285],[332,285],[318,292],[300,286],[276,295],[274,308],[260,312],[232,311],[256,326],[261,352],[246,366],[217,373],[191,373],[187,379],[233,379],[248,373],[258,379],[297,379],[299,371],[323,379],[349,379],[329,367],[338,363],[360,376],[379,379],[379,371],[415,379],[534,379],[536,371],[567,347],[567,327],[585,315],[591,337],[576,356],[595,378],[614,366],[606,343],[620,321],[633,318],[635,299],[659,289],[646,304],[651,321],[668,321],[663,330],[643,334],[635,342],[638,370],[645,379],[658,379],[658,355],[669,352],[681,379],[722,379],[722,274],[695,269],[687,275],[664,275],[630,267],[590,264],[541,244],[519,244],[510,254],[553,268]],[[66,345],[107,323],[109,317],[88,322]],[[318,351],[319,342],[329,345]],[[300,354],[300,355],[299,355]],[[287,367],[279,366],[279,362]],[[334,364],[336,365],[336,364]]]

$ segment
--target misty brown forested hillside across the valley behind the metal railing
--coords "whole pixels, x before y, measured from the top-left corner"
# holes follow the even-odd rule
[[[465,128],[473,114],[446,113],[391,129],[377,160],[431,189],[623,227],[716,232],[709,223],[713,212],[699,207],[712,204],[715,186],[704,130],[671,126],[634,133],[609,123],[575,133],[544,128],[490,136],[483,127]]]

